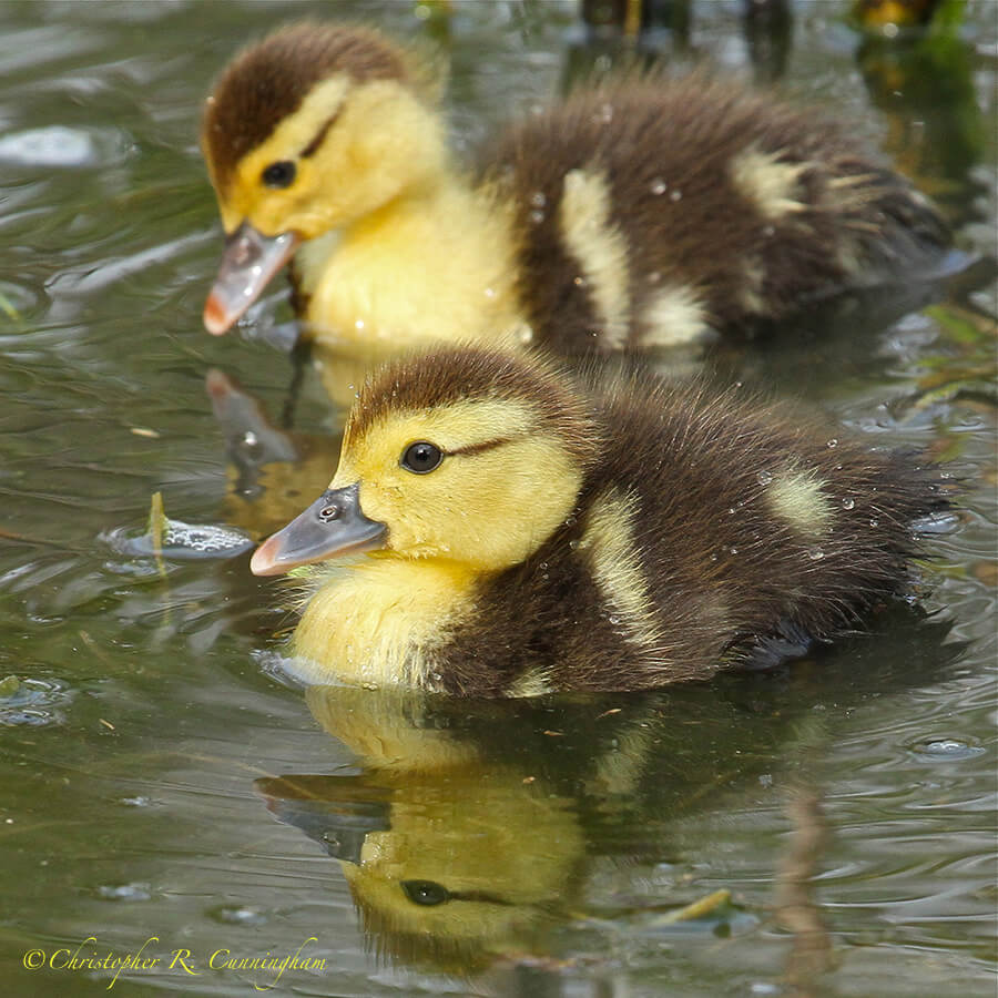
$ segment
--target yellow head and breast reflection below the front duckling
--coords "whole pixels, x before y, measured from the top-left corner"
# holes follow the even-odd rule
[[[364,774],[256,785],[281,821],[340,860],[379,953],[480,969],[498,954],[537,948],[568,917],[587,863],[579,802],[536,775],[529,757],[503,762],[468,729],[471,720],[536,733],[529,717],[347,688],[315,686],[306,697]]]

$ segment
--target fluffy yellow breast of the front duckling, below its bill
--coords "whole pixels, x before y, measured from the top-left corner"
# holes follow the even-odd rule
[[[390,553],[336,570],[295,631],[303,676],[434,689],[436,651],[470,617],[477,579],[457,561]]]

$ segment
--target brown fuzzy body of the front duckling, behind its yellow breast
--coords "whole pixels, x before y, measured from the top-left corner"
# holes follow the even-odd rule
[[[576,513],[480,594],[451,692],[640,689],[768,666],[910,585],[939,472],[743,389],[595,389],[604,442]]]

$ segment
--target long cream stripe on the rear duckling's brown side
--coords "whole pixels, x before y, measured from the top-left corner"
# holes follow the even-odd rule
[[[576,257],[610,346],[622,346],[631,307],[628,243],[612,222],[607,181],[597,173],[572,170],[564,176],[559,222],[569,253]]]

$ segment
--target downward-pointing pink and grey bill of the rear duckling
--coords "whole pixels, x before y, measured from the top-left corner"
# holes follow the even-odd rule
[[[204,327],[221,336],[261,296],[301,242],[294,232],[265,236],[243,222],[225,241],[218,276],[204,304]]]

